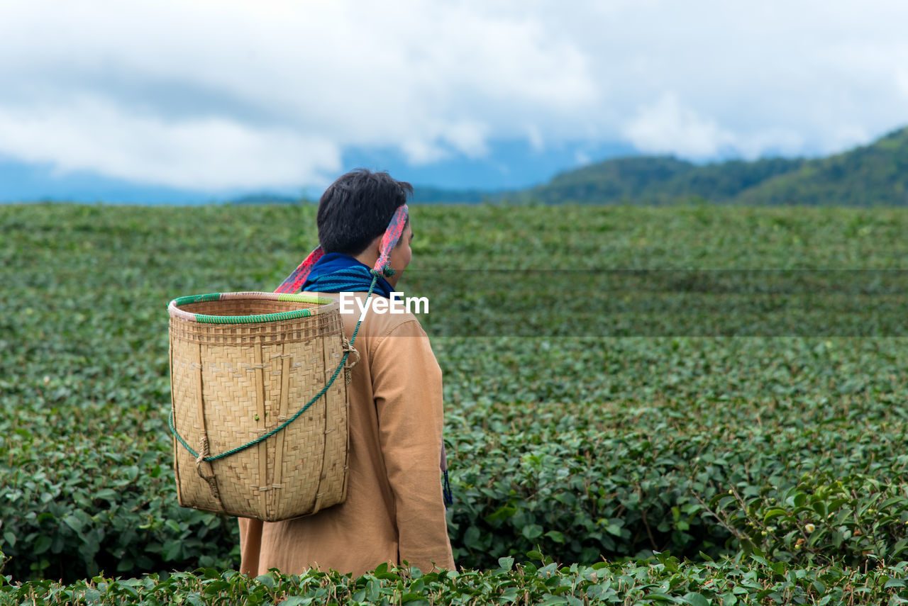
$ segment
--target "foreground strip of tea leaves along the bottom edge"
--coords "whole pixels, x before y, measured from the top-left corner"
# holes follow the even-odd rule
[[[501,558],[488,571],[441,571],[381,564],[360,577],[309,571],[271,572],[254,579],[235,571],[94,577],[69,585],[10,583],[0,577],[0,601],[41,604],[901,604],[908,601],[906,563],[873,571],[839,566],[799,568],[761,556],[685,563],[658,555],[649,561],[559,567],[538,552],[537,563]],[[541,560],[541,561],[540,561]],[[537,565],[538,564],[538,565]]]

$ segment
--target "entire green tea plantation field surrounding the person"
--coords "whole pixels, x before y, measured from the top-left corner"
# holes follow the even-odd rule
[[[11,205],[0,601],[908,601],[908,211],[411,215],[462,570],[251,580],[176,503],[167,302],[275,288],[313,207]]]

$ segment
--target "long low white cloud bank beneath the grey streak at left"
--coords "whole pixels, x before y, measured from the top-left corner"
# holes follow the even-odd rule
[[[0,153],[201,191],[293,187],[341,165],[340,149],[325,139],[214,117],[164,122],[90,98],[0,109]]]

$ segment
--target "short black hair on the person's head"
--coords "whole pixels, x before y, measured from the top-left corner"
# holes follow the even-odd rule
[[[319,200],[321,248],[355,257],[388,229],[394,211],[412,194],[410,183],[384,171],[356,169],[341,175]]]

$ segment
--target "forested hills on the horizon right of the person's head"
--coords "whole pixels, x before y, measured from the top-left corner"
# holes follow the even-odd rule
[[[419,194],[426,192],[426,199]],[[707,200],[727,204],[835,206],[908,205],[908,127],[870,145],[805,160],[769,158],[706,165],[671,156],[615,158],[561,172],[520,191],[444,191],[420,188],[426,202],[580,202],[670,204]]]

